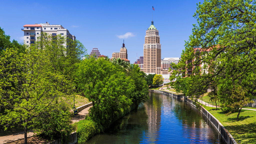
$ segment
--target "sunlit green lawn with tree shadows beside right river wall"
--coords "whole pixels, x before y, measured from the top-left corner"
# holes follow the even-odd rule
[[[219,108],[205,107],[221,124],[230,132],[236,142],[256,143],[256,111],[241,110],[239,121],[235,112],[231,115],[224,115]]]

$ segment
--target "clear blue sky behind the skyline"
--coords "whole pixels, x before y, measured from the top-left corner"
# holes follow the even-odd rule
[[[203,2],[203,1],[201,1]],[[143,56],[146,30],[151,25],[159,30],[162,58],[180,57],[184,40],[192,32],[197,0],[168,1],[0,1],[0,26],[11,39],[23,41],[23,25],[60,24],[76,36],[90,53],[98,48],[111,57],[120,51],[123,39],[128,59],[136,53]],[[128,33],[129,37],[123,38]],[[127,34],[126,34],[127,35]]]

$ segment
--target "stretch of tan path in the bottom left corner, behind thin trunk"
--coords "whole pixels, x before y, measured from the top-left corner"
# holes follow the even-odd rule
[[[32,137],[33,135],[34,135],[34,133],[33,133],[32,130],[30,130],[30,132],[27,133],[28,138]],[[19,133],[15,133],[13,135],[7,135],[7,136],[0,137],[0,144],[16,141],[16,140],[20,140],[20,139],[24,139],[24,131],[19,132]]]

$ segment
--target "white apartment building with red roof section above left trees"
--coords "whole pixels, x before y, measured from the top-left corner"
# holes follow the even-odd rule
[[[24,25],[21,30],[24,32],[25,44],[33,44],[42,32],[46,32],[52,36],[62,35],[75,40],[76,37],[71,35],[62,25],[50,25],[49,23]]]

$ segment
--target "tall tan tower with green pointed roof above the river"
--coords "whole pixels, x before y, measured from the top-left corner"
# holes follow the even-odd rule
[[[161,44],[158,30],[152,20],[146,30],[144,44],[144,73],[160,74],[161,71]]]

